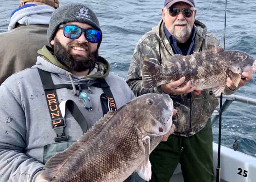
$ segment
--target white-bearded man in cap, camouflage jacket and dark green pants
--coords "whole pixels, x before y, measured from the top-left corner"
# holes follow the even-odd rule
[[[162,20],[146,33],[135,47],[127,76],[127,83],[135,96],[146,93],[168,93],[174,101],[177,115],[174,135],[161,142],[150,155],[154,182],[169,182],[177,164],[185,182],[210,182],[213,178],[212,128],[210,116],[218,105],[212,90],[197,91],[190,82],[179,87],[185,77],[177,81],[145,89],[142,84],[142,61],[165,64],[172,55],[190,55],[194,52],[220,46],[220,40],[207,32],[206,26],[197,21],[194,0],[165,0]],[[244,72],[243,86],[252,77]],[[179,87],[179,88],[177,88]],[[225,94],[236,91],[228,78]],[[142,181],[133,179],[133,181]]]

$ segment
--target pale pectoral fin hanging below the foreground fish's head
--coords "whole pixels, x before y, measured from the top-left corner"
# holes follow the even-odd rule
[[[140,178],[149,181],[151,179],[152,171],[151,171],[151,163],[149,161],[149,153],[150,153],[150,137],[146,136],[142,139],[142,142],[145,146],[145,157],[144,161],[140,166],[136,169],[136,172],[140,176]]]

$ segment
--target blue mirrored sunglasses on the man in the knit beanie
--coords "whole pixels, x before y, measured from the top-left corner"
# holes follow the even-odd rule
[[[88,42],[97,43],[100,40],[101,33],[94,29],[83,29],[76,25],[60,25],[59,28],[64,28],[64,36],[69,39],[78,39],[82,32]]]

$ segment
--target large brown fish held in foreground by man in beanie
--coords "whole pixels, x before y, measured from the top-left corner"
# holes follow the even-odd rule
[[[131,100],[49,159],[42,177],[55,182],[122,182],[136,171],[149,181],[149,154],[171,129],[172,111],[167,94]]]

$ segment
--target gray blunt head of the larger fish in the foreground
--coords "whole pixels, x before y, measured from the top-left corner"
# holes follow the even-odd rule
[[[139,98],[139,97],[138,97]],[[172,127],[173,103],[168,94],[144,94],[134,105],[133,120],[144,136],[162,136]]]

